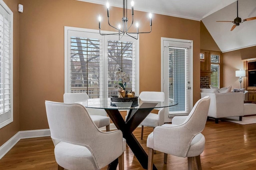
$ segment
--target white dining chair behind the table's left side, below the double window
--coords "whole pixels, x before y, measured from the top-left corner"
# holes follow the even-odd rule
[[[87,93],[64,93],[64,103],[77,103],[89,99]],[[110,131],[110,118],[104,109],[87,108],[92,120],[98,128],[106,126],[106,131]]]

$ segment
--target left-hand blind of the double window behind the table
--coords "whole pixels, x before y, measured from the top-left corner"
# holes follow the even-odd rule
[[[102,92],[100,39],[70,37],[70,92],[99,98]]]

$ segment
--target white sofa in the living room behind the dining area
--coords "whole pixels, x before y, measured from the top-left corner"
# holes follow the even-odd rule
[[[210,96],[208,117],[214,118],[215,123],[218,123],[219,118],[234,116],[239,116],[239,120],[242,121],[242,116],[244,116],[243,92],[201,92],[201,98],[204,96]]]

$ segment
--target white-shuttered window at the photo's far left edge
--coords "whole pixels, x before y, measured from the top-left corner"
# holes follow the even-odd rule
[[[13,13],[0,0],[0,128],[13,121],[12,27]]]

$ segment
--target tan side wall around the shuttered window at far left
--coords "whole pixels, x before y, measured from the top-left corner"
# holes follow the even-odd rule
[[[4,0],[13,12],[13,122],[0,129],[0,146],[19,131],[19,12],[18,0]]]

